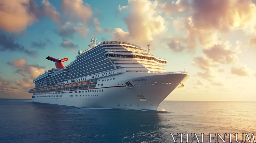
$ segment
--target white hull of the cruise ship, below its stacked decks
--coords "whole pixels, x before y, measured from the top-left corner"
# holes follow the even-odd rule
[[[189,77],[187,73],[124,72],[97,78],[95,88],[74,90],[80,93],[58,91],[40,94],[40,97],[36,94],[32,100],[33,102],[85,108],[156,110],[158,105]],[[108,80],[113,78],[115,80]],[[125,82],[128,81],[134,86],[127,87]],[[95,92],[89,92],[90,90]],[[139,98],[141,95],[144,98]]]

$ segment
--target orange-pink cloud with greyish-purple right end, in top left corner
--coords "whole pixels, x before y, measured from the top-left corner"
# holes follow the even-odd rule
[[[16,0],[15,3],[2,0],[0,15],[0,29],[9,33],[22,32],[43,16],[49,16],[56,23],[60,21],[60,14],[47,0],[42,0],[41,7],[34,0]]]

